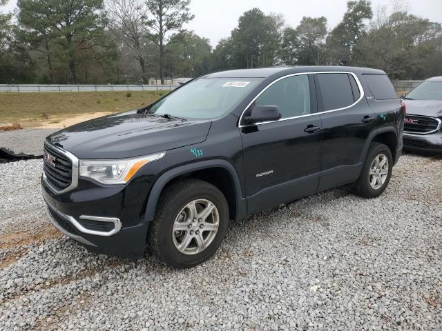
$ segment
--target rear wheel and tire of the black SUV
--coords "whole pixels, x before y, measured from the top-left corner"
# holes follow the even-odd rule
[[[378,158],[378,161],[383,160],[382,156],[387,159],[388,165],[383,165],[382,168],[376,168],[376,170],[373,171],[374,174],[371,175],[370,170],[376,167],[376,165],[374,164],[375,159]],[[382,161],[378,164],[381,163]],[[390,182],[390,177],[392,176],[392,169],[393,157],[390,148],[385,146],[383,143],[372,143],[368,149],[361,176],[356,181],[356,183],[354,183],[354,194],[360,197],[365,197],[367,199],[378,197],[384,192],[385,188],[387,188],[387,185]],[[383,174],[385,174],[385,171],[388,172],[384,177]],[[373,185],[374,177],[378,177],[378,179],[376,179],[375,185]]]

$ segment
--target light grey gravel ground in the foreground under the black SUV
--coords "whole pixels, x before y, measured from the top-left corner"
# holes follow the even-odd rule
[[[329,190],[232,222],[189,270],[61,237],[41,165],[0,164],[0,330],[442,330],[442,159],[401,157],[377,199]]]

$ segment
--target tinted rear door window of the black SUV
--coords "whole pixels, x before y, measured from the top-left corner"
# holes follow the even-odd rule
[[[335,110],[354,103],[353,90],[346,73],[315,74],[324,110]]]

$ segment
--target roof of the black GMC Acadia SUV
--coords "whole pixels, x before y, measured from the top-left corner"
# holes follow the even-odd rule
[[[271,67],[258,69],[240,69],[215,72],[207,74],[204,78],[267,78],[274,74],[296,74],[300,72],[316,72],[316,71],[345,71],[365,74],[385,74],[383,70],[358,68],[358,67],[343,67],[343,66],[298,66],[298,67]]]

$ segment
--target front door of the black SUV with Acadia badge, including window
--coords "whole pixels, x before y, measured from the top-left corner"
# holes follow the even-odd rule
[[[297,74],[273,83],[252,107],[278,106],[282,118],[240,128],[249,213],[318,188],[321,121],[314,114],[316,95],[309,80],[309,75]]]

